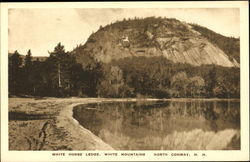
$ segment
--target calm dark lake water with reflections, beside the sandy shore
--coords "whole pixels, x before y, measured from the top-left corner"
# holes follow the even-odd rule
[[[117,150],[240,149],[239,101],[79,105],[74,118]]]

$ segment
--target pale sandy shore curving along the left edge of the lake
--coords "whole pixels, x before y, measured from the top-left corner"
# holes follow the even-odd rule
[[[136,99],[9,98],[10,150],[112,150],[73,117],[73,107]],[[154,99],[152,99],[154,100]]]

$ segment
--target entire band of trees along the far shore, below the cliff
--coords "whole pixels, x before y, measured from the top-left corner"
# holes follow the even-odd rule
[[[85,64],[60,43],[45,61],[9,56],[9,95],[50,97],[240,97],[240,69],[191,66],[164,57],[131,57]]]

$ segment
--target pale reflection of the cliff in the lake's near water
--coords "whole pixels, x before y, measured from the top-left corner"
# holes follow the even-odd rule
[[[100,131],[100,138],[115,149],[121,150],[224,150],[240,149],[240,131],[226,129],[217,133],[194,129],[189,132],[174,132],[165,137],[145,136],[131,138],[129,136],[114,135],[107,129]],[[236,146],[230,146],[236,140]]]

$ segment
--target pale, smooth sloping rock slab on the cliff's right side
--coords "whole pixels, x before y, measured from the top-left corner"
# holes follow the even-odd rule
[[[230,61],[221,49],[202,38],[177,41],[162,52],[167,59],[173,62],[188,63],[195,66],[215,64],[225,67],[239,67],[239,63],[235,59]]]

